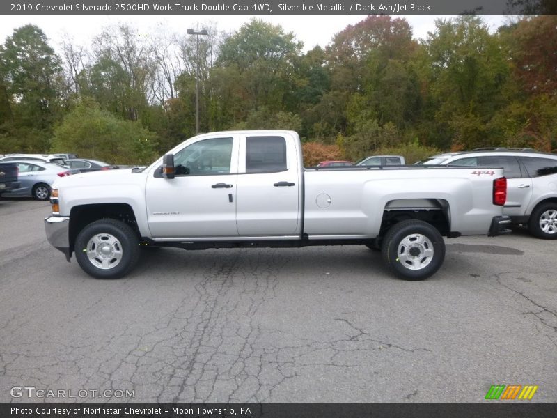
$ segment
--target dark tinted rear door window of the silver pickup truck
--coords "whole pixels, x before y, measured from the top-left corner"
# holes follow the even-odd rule
[[[286,169],[286,140],[283,137],[246,138],[246,173],[272,173]]]

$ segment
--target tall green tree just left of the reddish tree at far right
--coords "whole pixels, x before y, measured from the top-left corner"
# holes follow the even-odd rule
[[[443,132],[430,142],[455,149],[491,145],[489,121],[505,104],[503,86],[509,75],[499,36],[492,36],[480,17],[437,20],[426,49],[427,105]]]

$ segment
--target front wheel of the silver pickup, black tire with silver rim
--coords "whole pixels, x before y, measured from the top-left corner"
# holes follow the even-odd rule
[[[75,240],[79,266],[97,279],[125,276],[139,260],[139,238],[116,219],[100,219],[82,229]]]

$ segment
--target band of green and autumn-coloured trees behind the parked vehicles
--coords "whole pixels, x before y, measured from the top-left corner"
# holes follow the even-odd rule
[[[485,146],[557,150],[557,16],[435,22],[369,16],[302,52],[257,19],[208,36],[109,26],[60,53],[40,27],[0,45],[0,153],[78,153],[148,164],[201,132],[289,129],[304,162]]]

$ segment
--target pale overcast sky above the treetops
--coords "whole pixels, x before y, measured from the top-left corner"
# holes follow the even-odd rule
[[[51,45],[58,49],[65,33],[74,38],[79,45],[88,45],[93,36],[98,35],[104,26],[129,23],[143,36],[155,33],[162,26],[173,33],[185,33],[186,29],[203,29],[203,22],[216,22],[220,31],[233,32],[240,29],[253,16],[1,16],[0,41],[10,36],[14,29],[25,24],[36,24],[42,29]],[[395,16],[393,16],[394,18]],[[401,16],[412,26],[414,38],[425,38],[434,29],[436,16]],[[447,16],[441,16],[448,18]],[[349,24],[356,24],[365,16],[256,16],[257,19],[280,24],[286,32],[293,32],[297,40],[304,42],[304,51],[315,45],[324,47],[333,36]],[[494,31],[504,22],[503,16],[483,17],[489,28]]]

